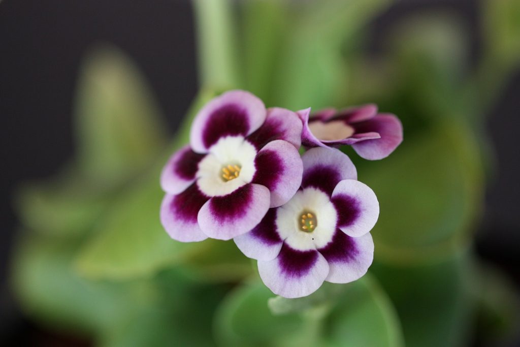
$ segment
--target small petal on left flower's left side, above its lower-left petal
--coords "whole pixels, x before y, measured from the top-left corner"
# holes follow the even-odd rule
[[[185,146],[174,153],[161,173],[161,187],[171,194],[188,188],[194,181],[199,162],[205,155],[193,152]]]

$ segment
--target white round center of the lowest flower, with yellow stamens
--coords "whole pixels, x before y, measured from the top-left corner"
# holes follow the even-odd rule
[[[327,245],[334,235],[336,222],[336,209],[329,196],[316,188],[297,191],[288,203],[278,208],[276,215],[280,236],[297,250]]]

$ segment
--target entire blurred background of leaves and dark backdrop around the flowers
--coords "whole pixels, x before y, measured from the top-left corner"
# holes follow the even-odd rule
[[[519,1],[3,0],[0,47],[0,344],[520,345]],[[346,149],[367,278],[281,304],[167,237],[158,173],[229,88],[402,120],[390,157]]]

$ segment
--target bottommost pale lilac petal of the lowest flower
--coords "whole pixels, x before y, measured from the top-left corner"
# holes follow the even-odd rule
[[[258,261],[265,285],[284,298],[300,298],[315,292],[329,274],[327,260],[316,250],[297,251],[283,245],[270,261]]]

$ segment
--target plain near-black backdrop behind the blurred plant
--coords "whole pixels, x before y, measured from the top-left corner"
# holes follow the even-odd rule
[[[479,2],[402,0],[372,23],[368,49],[382,52],[385,32],[403,16],[454,11],[480,54]],[[197,92],[196,46],[188,0],[0,0],[0,344],[82,345],[25,319],[8,289],[9,250],[17,227],[16,187],[59,171],[74,152],[72,106],[83,54],[109,42],[131,56],[150,83],[173,134]],[[377,100],[374,100],[376,102]],[[511,76],[487,121],[495,159],[476,248],[520,286],[520,73]],[[512,239],[513,238],[513,239]]]

